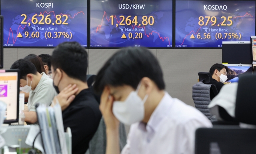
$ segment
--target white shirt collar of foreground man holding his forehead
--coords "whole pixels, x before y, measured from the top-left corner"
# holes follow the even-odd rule
[[[150,116],[150,119],[146,125],[143,122],[140,122],[139,127],[141,130],[146,131],[153,131],[156,132],[159,127],[159,123],[164,119],[164,117],[170,112],[170,108],[173,104],[173,98],[168,94],[168,92],[165,92],[164,97]],[[143,128],[144,125],[144,128]]]

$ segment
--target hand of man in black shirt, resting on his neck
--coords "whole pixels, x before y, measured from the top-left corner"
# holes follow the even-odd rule
[[[75,94],[77,91],[78,88],[76,88],[76,84],[69,84],[57,96],[54,97],[52,106],[56,104],[56,99],[58,99],[58,102],[61,106],[61,110],[65,110],[70,105],[70,103],[75,99]]]

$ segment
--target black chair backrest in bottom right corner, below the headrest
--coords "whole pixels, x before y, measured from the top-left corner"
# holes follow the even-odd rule
[[[255,154],[256,129],[238,126],[199,128],[196,130],[195,154]]]

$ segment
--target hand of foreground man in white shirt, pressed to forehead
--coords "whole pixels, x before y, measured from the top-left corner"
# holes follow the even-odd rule
[[[100,97],[100,111],[108,130],[118,130],[119,121],[112,112],[114,98],[110,96],[110,89],[105,87]]]

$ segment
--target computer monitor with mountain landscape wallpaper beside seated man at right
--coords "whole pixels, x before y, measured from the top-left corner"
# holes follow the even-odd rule
[[[242,74],[251,73],[252,74],[252,64],[224,64],[228,66],[226,83],[238,82],[239,76]]]

